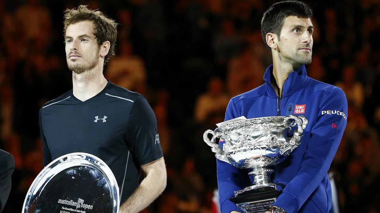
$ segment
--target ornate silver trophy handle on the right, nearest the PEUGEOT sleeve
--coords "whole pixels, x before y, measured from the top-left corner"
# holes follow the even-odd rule
[[[294,124],[291,124],[293,122],[289,122],[289,120],[294,120]],[[283,125],[287,126],[291,124],[292,127],[294,127],[297,124],[297,130],[294,130],[293,136],[290,138],[290,141],[288,144],[285,145],[285,149],[283,149],[281,152],[285,153],[290,150],[290,152],[293,152],[294,149],[296,149],[299,144],[301,143],[301,137],[304,134],[304,129],[307,125],[307,119],[305,116],[295,116],[295,115],[288,115],[285,117]]]

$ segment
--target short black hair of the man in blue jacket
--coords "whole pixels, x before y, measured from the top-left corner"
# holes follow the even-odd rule
[[[271,48],[266,44],[266,34],[274,33],[280,40],[281,28],[284,19],[288,16],[297,16],[299,18],[311,18],[312,10],[303,2],[299,1],[283,1],[274,3],[263,15],[261,19],[261,35],[266,47],[271,51]]]

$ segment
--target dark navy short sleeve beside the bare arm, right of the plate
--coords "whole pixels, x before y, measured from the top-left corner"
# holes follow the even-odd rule
[[[127,134],[130,151],[139,165],[163,157],[157,119],[144,96],[139,96],[133,103]]]

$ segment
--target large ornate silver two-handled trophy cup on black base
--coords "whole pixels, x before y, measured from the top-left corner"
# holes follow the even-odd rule
[[[292,127],[297,128],[288,138]],[[215,157],[237,168],[249,169],[253,185],[234,191],[233,202],[245,212],[265,212],[280,194],[279,184],[270,180],[272,166],[283,162],[301,143],[306,128],[305,116],[258,117],[228,122],[215,131],[207,130],[203,140],[212,147]],[[212,134],[211,140],[208,135]],[[217,138],[224,140],[223,149]]]

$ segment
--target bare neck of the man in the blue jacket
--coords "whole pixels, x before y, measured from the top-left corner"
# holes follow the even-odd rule
[[[273,76],[271,75],[271,84],[274,87],[274,91],[277,93],[277,96],[280,98],[282,98],[282,87],[285,80],[287,80],[289,74],[291,74],[298,67],[298,65],[294,66],[290,63],[284,63],[284,61],[278,57],[273,57]]]

